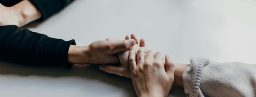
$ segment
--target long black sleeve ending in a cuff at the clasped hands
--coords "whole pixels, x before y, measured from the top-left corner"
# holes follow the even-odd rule
[[[35,33],[28,29],[20,30],[15,25],[0,26],[0,60],[29,66],[66,66],[68,50],[75,40],[64,41]]]

